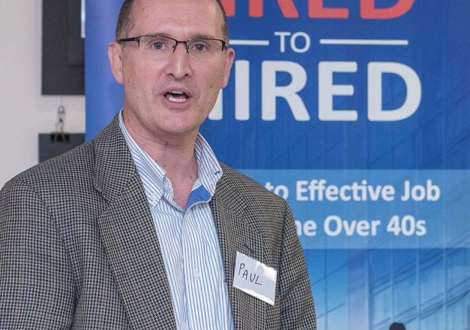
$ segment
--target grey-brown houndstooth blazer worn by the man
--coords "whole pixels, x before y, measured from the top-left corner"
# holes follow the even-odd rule
[[[211,208],[235,329],[316,329],[282,198],[222,165]],[[240,251],[278,271],[275,305],[232,286]],[[164,262],[117,117],[0,193],[0,329],[176,330]]]

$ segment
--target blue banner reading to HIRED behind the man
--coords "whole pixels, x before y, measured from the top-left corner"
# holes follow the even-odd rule
[[[121,1],[98,2],[87,138],[122,107],[103,78]],[[222,3],[235,64],[201,132],[291,205],[318,329],[469,329],[470,2]]]

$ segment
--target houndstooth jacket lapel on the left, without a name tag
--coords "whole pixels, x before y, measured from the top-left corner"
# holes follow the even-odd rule
[[[129,322],[176,330],[157,233],[117,116],[94,143],[94,186],[108,202],[98,226]]]

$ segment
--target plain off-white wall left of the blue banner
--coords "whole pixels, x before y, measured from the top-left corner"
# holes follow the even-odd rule
[[[41,95],[42,1],[0,1],[0,187],[38,162],[60,96]],[[65,130],[85,132],[85,97],[63,96]]]

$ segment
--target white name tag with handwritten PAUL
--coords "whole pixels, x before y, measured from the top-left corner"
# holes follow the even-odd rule
[[[274,306],[276,269],[236,252],[234,287]]]

